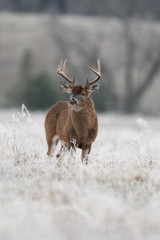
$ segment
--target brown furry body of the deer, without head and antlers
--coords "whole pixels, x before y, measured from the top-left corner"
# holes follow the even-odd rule
[[[85,151],[90,152],[98,131],[97,115],[90,97],[87,96],[81,105],[83,109],[76,112],[68,102],[57,102],[48,111],[45,119],[48,155],[55,135],[67,143],[69,150],[74,147],[71,141],[75,139],[78,148],[82,149],[82,161]]]

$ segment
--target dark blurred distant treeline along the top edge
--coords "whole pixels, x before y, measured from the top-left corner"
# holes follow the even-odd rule
[[[0,11],[160,19],[159,0],[0,0]]]

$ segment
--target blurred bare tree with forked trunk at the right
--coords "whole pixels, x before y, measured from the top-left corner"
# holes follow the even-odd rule
[[[156,58],[150,58],[146,64],[150,65],[149,70],[146,71],[146,75],[141,84],[134,89],[135,82],[135,68],[136,68],[136,51],[138,49],[138,42],[135,40],[135,37],[132,33],[132,24],[134,20],[131,17],[136,17],[137,8],[139,7],[139,1],[128,1],[127,6],[124,11],[123,27],[124,27],[124,38],[126,44],[126,65],[125,65],[125,97],[122,102],[122,109],[131,113],[136,110],[137,104],[140,99],[143,97],[145,92],[155,80],[156,74],[160,69],[160,46],[158,47],[158,53]],[[134,25],[135,28],[135,25]],[[141,35],[139,35],[141,37]],[[144,55],[147,55],[147,52],[150,51],[150,46],[145,49]],[[153,53],[154,54],[154,53]],[[144,60],[144,59],[142,59]],[[141,80],[141,79],[140,79]],[[140,81],[141,82],[141,81]]]

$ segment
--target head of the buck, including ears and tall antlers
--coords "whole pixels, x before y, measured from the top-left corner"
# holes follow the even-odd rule
[[[88,97],[90,94],[96,92],[99,89],[99,84],[97,83],[97,81],[100,79],[101,77],[101,63],[100,63],[100,59],[97,60],[97,65],[98,65],[98,69],[95,70],[93,68],[91,68],[90,66],[88,66],[88,68],[97,75],[97,77],[89,82],[87,79],[87,82],[85,85],[76,85],[75,84],[75,76],[73,78],[73,80],[71,78],[69,78],[66,73],[65,73],[65,67],[66,67],[66,61],[67,59],[65,59],[64,63],[63,60],[61,59],[60,64],[58,65],[58,69],[57,69],[57,73],[59,75],[61,75],[64,79],[66,79],[69,84],[67,83],[61,83],[61,88],[63,89],[64,92],[69,93],[70,94],[70,101],[69,103],[72,106],[79,106],[82,107],[86,97]]]

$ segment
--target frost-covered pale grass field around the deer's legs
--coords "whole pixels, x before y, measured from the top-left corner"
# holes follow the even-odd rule
[[[158,240],[160,119],[100,115],[84,166],[46,157],[44,117],[0,112],[0,239]]]

